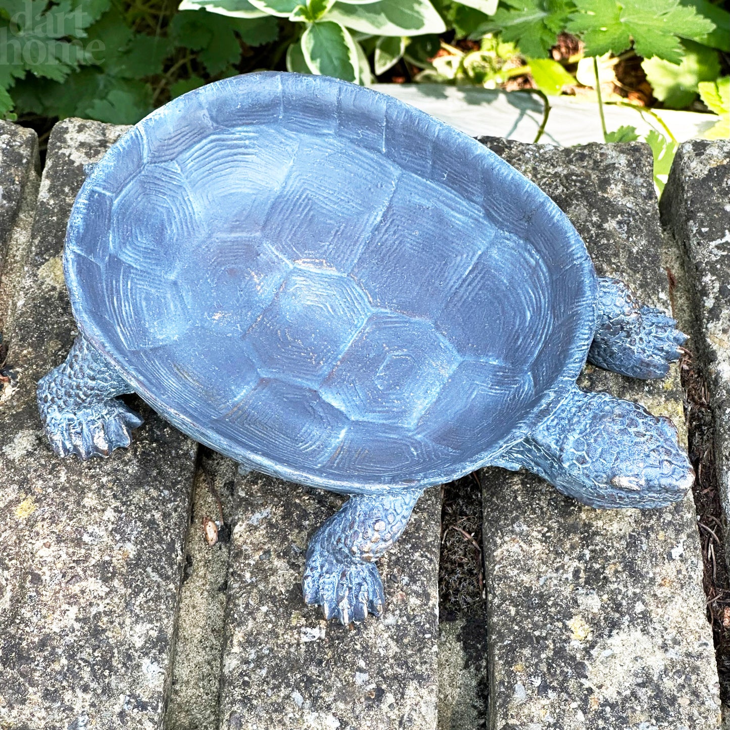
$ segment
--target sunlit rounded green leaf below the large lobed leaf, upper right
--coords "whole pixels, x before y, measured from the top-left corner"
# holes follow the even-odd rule
[[[641,64],[654,96],[671,109],[688,107],[696,98],[699,82],[715,80],[720,74],[717,51],[692,41],[682,45],[685,53],[678,66],[656,56]]]

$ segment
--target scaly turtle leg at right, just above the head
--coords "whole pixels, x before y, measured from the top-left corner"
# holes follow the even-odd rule
[[[676,325],[661,310],[642,307],[622,281],[599,277],[596,332],[588,361],[629,377],[664,377],[687,339]]]

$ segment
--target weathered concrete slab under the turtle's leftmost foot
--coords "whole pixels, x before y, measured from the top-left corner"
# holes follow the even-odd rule
[[[123,128],[53,130],[0,404],[0,727],[161,726],[195,446],[139,402],[128,450],[51,453],[35,386],[74,335],[61,245],[74,196]]]

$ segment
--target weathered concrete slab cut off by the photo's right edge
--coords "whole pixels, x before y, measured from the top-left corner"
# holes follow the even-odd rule
[[[730,141],[681,145],[661,218],[686,254],[693,339],[709,376],[718,484],[730,515]]]

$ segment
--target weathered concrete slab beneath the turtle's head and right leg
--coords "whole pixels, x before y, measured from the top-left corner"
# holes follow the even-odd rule
[[[669,308],[648,147],[566,150],[483,140],[565,210],[599,275]],[[676,276],[681,272],[675,271]],[[683,423],[676,367],[580,384]],[[691,496],[666,510],[592,510],[537,477],[489,469],[484,550],[496,730],[699,730],[719,723]]]

